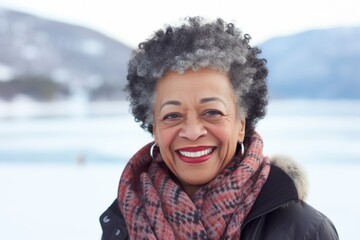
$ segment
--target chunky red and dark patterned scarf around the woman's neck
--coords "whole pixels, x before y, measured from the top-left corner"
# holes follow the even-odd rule
[[[120,179],[118,202],[131,239],[240,239],[241,226],[270,171],[254,133],[241,153],[192,199],[151,143],[134,155]]]

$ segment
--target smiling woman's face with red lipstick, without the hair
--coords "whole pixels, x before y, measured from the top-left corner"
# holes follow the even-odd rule
[[[229,78],[212,69],[168,72],[157,83],[155,142],[189,195],[218,175],[243,141],[245,120],[236,109]]]

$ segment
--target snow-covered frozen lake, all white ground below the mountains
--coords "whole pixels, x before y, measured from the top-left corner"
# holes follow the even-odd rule
[[[93,114],[68,114],[61,104],[12,115],[2,107],[0,239],[100,239],[98,217],[116,196],[122,168],[151,136],[124,104]],[[341,239],[354,239],[360,227],[359,123],[360,101],[275,101],[257,128],[265,154],[290,155],[307,169],[308,202]]]

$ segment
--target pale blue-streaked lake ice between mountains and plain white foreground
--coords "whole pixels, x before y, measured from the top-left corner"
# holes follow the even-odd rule
[[[71,115],[76,105],[69,109],[63,104],[44,107],[45,113],[23,107],[27,112],[22,115],[21,108],[14,108],[16,117],[1,118],[6,114],[0,106],[0,162],[117,163],[151,141],[150,134],[133,121],[127,105],[100,107],[96,114],[88,110],[91,117],[81,111]],[[57,109],[61,114],[54,117]],[[257,130],[268,155],[287,154],[304,163],[348,164],[360,162],[359,123],[360,101],[275,101]]]

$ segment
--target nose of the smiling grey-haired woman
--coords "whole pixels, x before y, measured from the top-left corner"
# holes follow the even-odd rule
[[[196,141],[200,137],[206,136],[206,134],[206,128],[197,118],[187,119],[179,132],[180,137],[187,138],[191,141]]]

